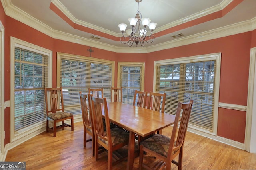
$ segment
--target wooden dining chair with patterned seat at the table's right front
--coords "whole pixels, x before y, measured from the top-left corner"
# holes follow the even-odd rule
[[[166,166],[166,170],[171,170],[171,163],[174,163],[178,166],[179,170],[182,170],[183,146],[188,129],[188,121],[190,118],[192,105],[193,100],[190,100],[190,102],[184,104],[181,102],[178,103],[171,138],[162,134],[155,134],[152,137],[140,142],[140,170],[142,167],[146,169],[153,169],[152,167],[149,167],[147,164],[143,163],[143,157],[145,156],[143,154],[144,152],[158,159],[154,161],[154,169],[160,170]],[[180,118],[181,111],[182,115]],[[178,130],[178,135],[176,135],[179,121],[180,127]],[[174,160],[176,156],[179,157],[178,162]]]

